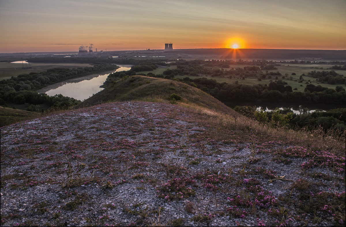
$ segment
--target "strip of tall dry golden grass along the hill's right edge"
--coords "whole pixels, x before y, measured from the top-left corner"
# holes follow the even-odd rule
[[[188,105],[183,106],[189,107]],[[200,112],[200,114],[209,117],[208,125],[214,126],[214,130],[210,132],[210,136],[217,141],[230,139],[230,130],[234,132],[234,137],[240,137],[246,140],[248,139],[249,131],[253,129],[257,131],[257,137],[260,140],[261,138],[265,140],[272,139],[304,147],[316,146],[324,150],[329,150],[336,155],[345,153],[346,131],[335,132],[329,130],[326,133],[322,128],[316,128],[312,131],[308,131],[306,128],[297,131],[286,128],[273,128],[242,115],[222,114],[194,105],[192,105],[192,108]]]

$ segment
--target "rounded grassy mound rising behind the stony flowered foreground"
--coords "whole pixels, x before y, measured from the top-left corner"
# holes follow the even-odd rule
[[[114,81],[106,89],[86,99],[75,108],[130,100],[168,103],[173,93],[181,96],[182,100],[179,102],[181,106],[203,107],[224,114],[237,115],[234,110],[200,89],[177,81],[139,75]]]

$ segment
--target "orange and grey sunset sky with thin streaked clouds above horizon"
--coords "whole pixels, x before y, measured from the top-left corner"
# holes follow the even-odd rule
[[[345,12],[346,0],[0,0],[0,53],[346,49]]]

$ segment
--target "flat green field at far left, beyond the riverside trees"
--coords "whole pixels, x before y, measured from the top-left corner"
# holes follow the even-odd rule
[[[91,66],[90,64],[81,63],[31,63],[31,69],[22,69],[20,63],[0,62],[0,80],[10,79],[11,76],[18,76],[20,74],[27,74],[30,72],[43,72],[47,69],[53,68],[79,68]]]

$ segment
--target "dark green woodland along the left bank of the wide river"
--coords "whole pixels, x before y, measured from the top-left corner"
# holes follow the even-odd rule
[[[46,93],[38,93],[37,90],[56,82],[118,68],[119,66],[116,65],[99,64],[77,69],[55,68],[48,69],[46,72],[12,76],[11,79],[0,80],[0,105],[7,107],[13,104],[28,103],[30,104],[27,109],[29,111],[35,111],[37,109],[35,105],[40,104],[45,104],[48,108],[66,109],[81,101],[64,97],[61,94],[48,96]]]

